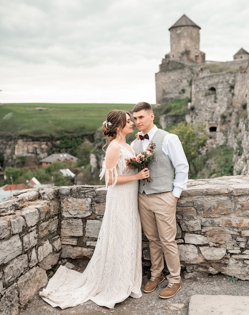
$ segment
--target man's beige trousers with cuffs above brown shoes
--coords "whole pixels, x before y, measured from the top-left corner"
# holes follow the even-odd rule
[[[159,277],[164,268],[163,254],[170,274],[169,283],[180,283],[181,263],[177,248],[176,206],[173,193],[138,194],[143,231],[149,241],[151,276]]]

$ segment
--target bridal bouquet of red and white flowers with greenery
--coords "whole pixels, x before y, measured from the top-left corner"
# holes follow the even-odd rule
[[[148,165],[154,161],[154,152],[153,149],[155,148],[155,142],[150,141],[149,146],[145,151],[142,151],[135,157],[131,157],[130,159],[126,159],[126,166],[133,170],[142,170],[147,168]],[[149,176],[145,179],[145,184],[152,183],[152,179]]]

